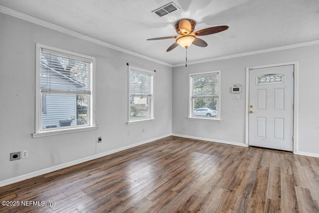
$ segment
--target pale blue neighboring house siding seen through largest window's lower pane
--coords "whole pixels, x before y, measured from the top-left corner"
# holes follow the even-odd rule
[[[60,126],[60,120],[72,120],[71,126],[76,125],[76,95],[46,94],[42,112],[42,128]],[[46,112],[46,113],[44,113]]]

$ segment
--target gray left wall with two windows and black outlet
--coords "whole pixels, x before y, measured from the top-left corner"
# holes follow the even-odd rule
[[[36,42],[96,57],[97,130],[31,137],[35,131]],[[155,121],[127,125],[126,63],[156,70]],[[171,67],[0,13],[0,182],[171,135],[171,86]],[[98,136],[102,143],[96,143]],[[23,150],[28,151],[28,158],[9,161],[9,153]]]

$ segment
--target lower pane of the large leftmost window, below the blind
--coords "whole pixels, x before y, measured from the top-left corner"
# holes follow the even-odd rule
[[[88,124],[88,95],[42,94],[41,129]]]

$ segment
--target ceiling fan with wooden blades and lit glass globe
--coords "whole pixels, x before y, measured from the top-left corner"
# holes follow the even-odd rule
[[[169,46],[168,49],[166,50],[166,52],[174,49],[176,46],[178,46],[178,44],[180,46],[186,48],[186,51],[187,51],[187,47],[189,47],[191,44],[194,44],[194,45],[200,46],[200,47],[207,46],[206,41],[204,41],[203,39],[197,38],[196,36],[214,34],[214,33],[221,32],[221,31],[228,29],[228,26],[223,25],[223,26],[208,27],[208,28],[193,32],[195,25],[196,25],[196,22],[192,19],[181,19],[181,20],[177,21],[174,25],[176,32],[179,35],[159,37],[159,38],[149,38],[147,40],[160,40],[160,39],[176,38],[175,43],[173,43],[171,46]]]

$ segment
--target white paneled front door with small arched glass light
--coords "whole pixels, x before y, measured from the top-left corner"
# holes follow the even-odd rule
[[[294,65],[249,69],[248,145],[293,151]]]

